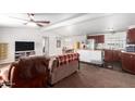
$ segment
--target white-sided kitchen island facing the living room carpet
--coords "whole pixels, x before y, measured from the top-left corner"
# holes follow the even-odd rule
[[[103,51],[102,50],[77,50],[79,53],[79,61],[91,64],[103,64]]]

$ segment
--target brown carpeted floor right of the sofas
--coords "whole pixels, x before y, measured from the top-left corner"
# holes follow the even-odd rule
[[[130,88],[135,75],[81,63],[81,70],[62,79],[54,88]]]

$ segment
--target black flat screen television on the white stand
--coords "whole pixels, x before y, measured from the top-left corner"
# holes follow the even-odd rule
[[[34,41],[15,41],[15,51],[35,50]]]

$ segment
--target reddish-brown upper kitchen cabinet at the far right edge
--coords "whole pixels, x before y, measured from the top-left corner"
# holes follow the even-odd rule
[[[127,43],[135,43],[135,28],[127,30],[126,41]]]

